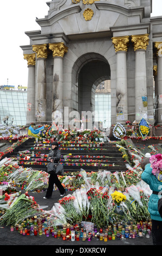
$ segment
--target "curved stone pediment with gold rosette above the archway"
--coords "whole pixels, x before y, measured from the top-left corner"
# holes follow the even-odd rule
[[[110,27],[140,24],[144,7],[135,6],[139,1],[128,0],[63,0],[48,2],[49,12],[36,22],[41,34],[65,35],[110,31]],[[119,4],[120,3],[120,4]]]

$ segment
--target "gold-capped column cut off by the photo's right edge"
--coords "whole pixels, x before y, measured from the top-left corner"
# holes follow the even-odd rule
[[[155,42],[157,48],[158,70],[157,70],[157,123],[162,124],[162,42]]]

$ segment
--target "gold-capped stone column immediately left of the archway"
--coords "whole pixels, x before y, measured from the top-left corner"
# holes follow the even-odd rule
[[[53,52],[53,95],[52,120],[62,117],[63,114],[63,58],[67,47],[63,42],[49,44]]]

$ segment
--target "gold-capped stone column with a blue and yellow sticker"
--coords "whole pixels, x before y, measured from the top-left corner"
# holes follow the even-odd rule
[[[148,34],[132,35],[135,51],[135,120],[147,119],[146,49]]]

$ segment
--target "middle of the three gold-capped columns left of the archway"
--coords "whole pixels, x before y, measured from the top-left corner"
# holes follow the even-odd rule
[[[36,107],[35,121],[46,121],[46,59],[47,45],[33,45],[33,51],[36,52]]]

